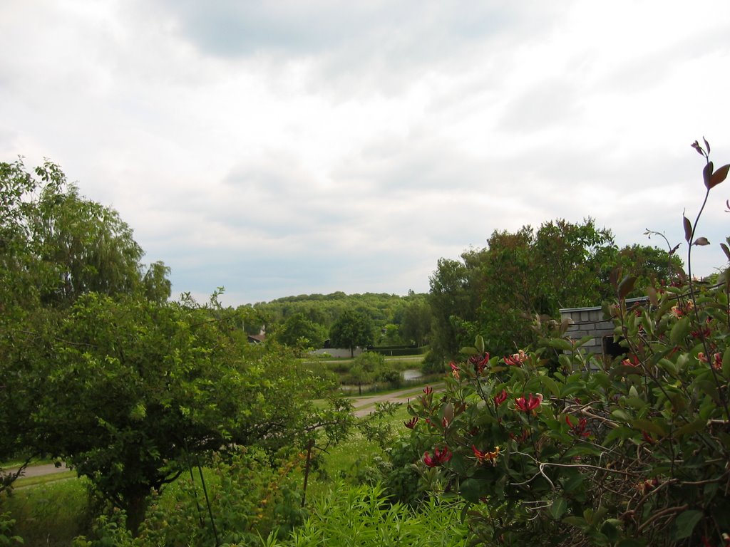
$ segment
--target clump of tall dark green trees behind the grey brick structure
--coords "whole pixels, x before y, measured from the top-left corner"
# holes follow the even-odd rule
[[[431,361],[437,366],[456,357],[478,333],[500,354],[534,344],[535,315],[556,317],[561,308],[607,298],[610,271],[617,267],[639,279],[640,291],[669,279],[680,263],[653,247],[619,250],[610,230],[597,228],[590,218],[580,224],[545,222],[538,230],[495,231],[487,247],[464,252],[461,261],[439,260],[430,278]]]

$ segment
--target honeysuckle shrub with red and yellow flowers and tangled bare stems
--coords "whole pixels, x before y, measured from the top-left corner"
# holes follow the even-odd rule
[[[707,202],[730,167],[715,171],[709,145],[693,146],[707,160]],[[477,337],[445,393],[412,402],[408,426],[434,446],[423,476],[465,500],[481,541],[730,545],[730,275],[691,281],[691,249],[707,244],[701,213],[684,219],[687,279],[629,306],[634,279],[614,276],[604,311],[622,356],[585,352],[566,324],[507,356]]]

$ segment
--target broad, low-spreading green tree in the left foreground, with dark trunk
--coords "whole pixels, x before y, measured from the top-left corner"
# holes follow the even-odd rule
[[[341,414],[296,360],[247,357],[226,310],[145,298],[77,298],[37,373],[37,449],[64,458],[137,529],[151,489],[228,446],[274,454]],[[329,414],[326,414],[329,413]],[[328,417],[326,417],[328,416]]]

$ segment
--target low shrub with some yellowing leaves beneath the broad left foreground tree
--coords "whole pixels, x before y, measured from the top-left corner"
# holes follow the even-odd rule
[[[91,540],[77,546],[176,547],[181,545],[261,545],[261,537],[284,537],[301,521],[298,459],[268,463],[266,454],[241,449],[230,459],[214,457],[205,473],[198,468],[181,478],[165,496],[154,494],[137,538],[126,531],[124,514],[97,519]],[[207,495],[207,497],[206,497]],[[210,500],[210,507],[207,505]],[[212,521],[211,521],[212,515]]]

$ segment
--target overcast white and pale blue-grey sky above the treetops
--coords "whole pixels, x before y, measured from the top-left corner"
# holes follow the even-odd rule
[[[0,51],[0,160],[59,163],[175,293],[233,305],[426,292],[556,218],[678,243],[689,145],[730,162],[727,0],[3,0]]]

